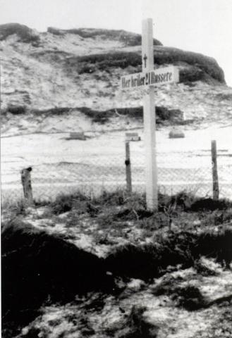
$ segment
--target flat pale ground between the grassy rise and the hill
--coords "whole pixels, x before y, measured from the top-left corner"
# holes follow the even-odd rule
[[[157,163],[161,192],[182,189],[212,194],[211,140],[218,149],[221,197],[232,198],[232,127],[186,127],[184,139],[169,139],[170,128],[157,131]],[[133,189],[144,191],[145,148],[130,142]],[[20,170],[32,166],[32,189],[36,198],[84,189],[125,187],[125,132],[89,133],[86,141],[68,140],[67,133],[25,134],[1,138],[2,198],[22,194]]]

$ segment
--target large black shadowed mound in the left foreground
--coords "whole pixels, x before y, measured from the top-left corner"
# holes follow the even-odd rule
[[[114,288],[100,258],[18,219],[3,226],[1,243],[4,320],[28,320],[47,299]]]

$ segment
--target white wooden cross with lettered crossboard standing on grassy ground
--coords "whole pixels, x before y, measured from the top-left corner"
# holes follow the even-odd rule
[[[143,98],[143,120],[145,133],[145,180],[146,201],[149,210],[158,209],[157,158],[155,139],[154,87],[179,81],[178,68],[169,65],[154,70],[152,19],[142,21],[142,73],[121,77],[121,89],[148,87]]]

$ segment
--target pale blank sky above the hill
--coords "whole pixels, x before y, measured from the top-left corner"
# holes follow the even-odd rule
[[[0,0],[0,23],[102,27],[141,33],[153,18],[154,37],[216,58],[232,87],[232,0]]]

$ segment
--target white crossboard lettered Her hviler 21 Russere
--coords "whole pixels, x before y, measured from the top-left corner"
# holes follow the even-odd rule
[[[125,75],[121,77],[121,89],[157,86],[172,82],[179,82],[179,72],[178,68],[169,65],[169,67]]]

